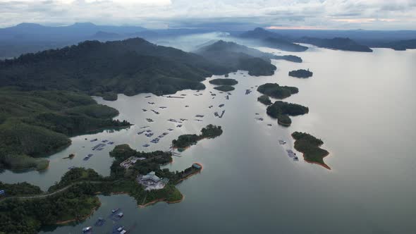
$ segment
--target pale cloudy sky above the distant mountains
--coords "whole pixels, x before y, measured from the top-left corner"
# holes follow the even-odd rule
[[[19,23],[416,30],[416,0],[0,0],[0,27]]]

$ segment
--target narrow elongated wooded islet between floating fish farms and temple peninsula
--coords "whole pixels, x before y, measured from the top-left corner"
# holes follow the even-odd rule
[[[177,140],[172,141],[172,147],[184,150],[187,147],[190,147],[192,144],[197,144],[198,141],[204,139],[204,138],[214,138],[221,135],[223,130],[221,129],[221,126],[216,126],[209,124],[207,127],[202,128],[201,134],[185,134],[180,135]]]

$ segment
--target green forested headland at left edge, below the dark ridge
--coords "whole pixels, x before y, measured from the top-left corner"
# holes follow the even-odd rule
[[[0,88],[0,168],[43,170],[43,157],[68,147],[69,137],[131,125],[117,115],[80,92]]]

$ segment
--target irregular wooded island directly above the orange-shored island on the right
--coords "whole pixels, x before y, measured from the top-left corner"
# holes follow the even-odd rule
[[[267,114],[272,118],[277,118],[277,123],[286,127],[292,124],[289,116],[300,116],[308,112],[309,109],[306,106],[286,101],[275,101],[271,106],[267,106]]]

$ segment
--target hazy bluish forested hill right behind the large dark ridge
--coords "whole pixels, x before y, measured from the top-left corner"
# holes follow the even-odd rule
[[[196,54],[233,70],[248,70],[250,75],[273,75],[276,66],[270,63],[272,55],[235,44],[218,41],[201,47]]]

